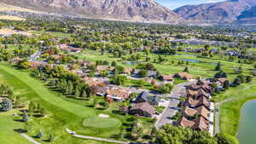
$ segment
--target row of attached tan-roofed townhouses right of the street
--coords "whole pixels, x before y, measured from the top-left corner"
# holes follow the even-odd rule
[[[201,78],[196,84],[186,87],[187,99],[183,104],[182,117],[177,120],[179,126],[209,131],[211,124],[210,89],[210,84]]]

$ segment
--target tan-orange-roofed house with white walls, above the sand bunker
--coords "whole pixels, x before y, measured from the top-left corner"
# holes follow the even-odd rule
[[[115,101],[124,101],[129,98],[130,91],[126,89],[108,89],[107,97],[113,98]]]

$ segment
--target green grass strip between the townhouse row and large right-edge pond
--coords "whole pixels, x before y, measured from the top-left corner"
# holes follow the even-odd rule
[[[231,101],[223,103],[220,110],[220,131],[230,135],[236,135],[239,128],[239,119],[241,116],[241,107],[247,101],[256,99],[256,82],[243,84],[236,88],[227,90],[224,95],[220,95],[219,100],[230,99]]]

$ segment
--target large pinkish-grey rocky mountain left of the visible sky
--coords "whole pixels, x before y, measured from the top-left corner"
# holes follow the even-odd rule
[[[26,9],[80,14],[91,18],[176,23],[181,18],[152,0],[0,0]]]

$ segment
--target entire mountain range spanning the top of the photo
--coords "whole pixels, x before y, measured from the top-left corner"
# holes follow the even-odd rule
[[[173,11],[153,0],[0,0],[0,3],[108,20],[189,25],[256,25],[256,0],[186,5]]]

